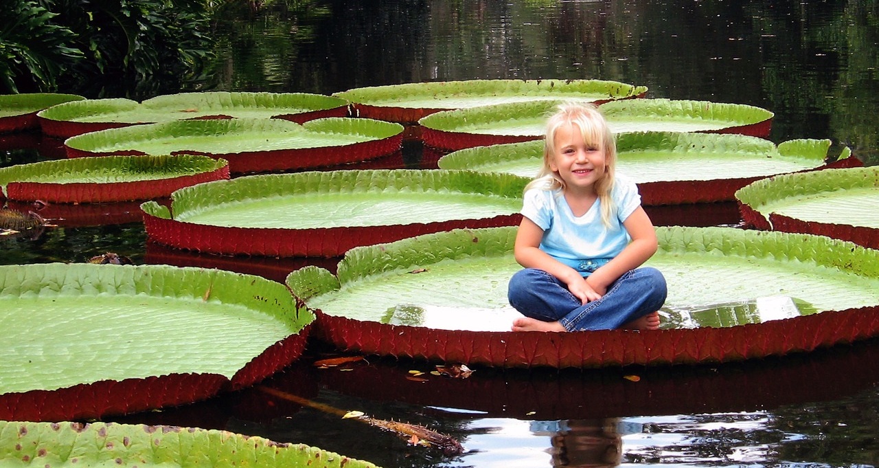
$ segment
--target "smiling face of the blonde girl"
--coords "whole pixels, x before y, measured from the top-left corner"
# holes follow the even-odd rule
[[[556,130],[556,150],[549,157],[549,169],[556,172],[567,190],[595,193],[595,182],[605,174],[605,149],[601,142],[585,143],[580,128],[563,125]]]

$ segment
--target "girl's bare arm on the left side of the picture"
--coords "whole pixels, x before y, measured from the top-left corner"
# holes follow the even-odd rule
[[[552,274],[568,285],[570,293],[577,296],[583,303],[601,297],[585,282],[577,270],[553,259],[547,252],[541,251],[542,238],[543,230],[541,227],[523,216],[522,222],[519,223],[519,230],[516,232],[516,243],[512,251],[519,265],[526,268],[539,268]]]

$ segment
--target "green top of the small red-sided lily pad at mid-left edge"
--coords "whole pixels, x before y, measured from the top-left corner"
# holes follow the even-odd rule
[[[52,161],[40,161],[24,165],[12,165],[0,168],[0,190],[6,193],[6,186],[11,182],[28,182],[38,179],[46,182],[47,175],[62,180],[65,176],[76,173],[89,172],[113,172],[124,178],[125,174],[138,174],[133,180],[145,180],[143,174],[156,173],[156,177],[149,179],[166,179],[174,177],[169,172],[177,172],[179,176],[191,175],[203,172],[213,172],[229,165],[225,159],[198,155],[180,156],[102,156],[102,157],[75,157],[71,159],[56,159]],[[159,171],[157,171],[159,170]],[[118,182],[119,179],[114,179]]]

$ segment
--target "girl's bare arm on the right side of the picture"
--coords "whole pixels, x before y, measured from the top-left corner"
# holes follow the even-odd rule
[[[657,252],[657,233],[650,222],[650,216],[644,212],[644,208],[638,207],[622,223],[632,241],[622,249],[619,255],[606,265],[595,270],[586,278],[586,282],[602,296],[607,292],[607,287],[615,282],[620,276],[640,267],[645,261]]]

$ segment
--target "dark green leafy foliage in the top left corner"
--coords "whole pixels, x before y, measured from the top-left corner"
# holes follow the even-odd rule
[[[102,94],[115,86],[125,94],[147,94],[162,86],[179,89],[183,80],[200,75],[212,55],[201,0],[12,4],[14,14],[0,20],[0,52],[4,58],[25,57],[19,62],[26,69],[0,69],[9,91],[17,91],[14,80],[23,75],[33,76],[39,90],[99,87],[86,94]]]

